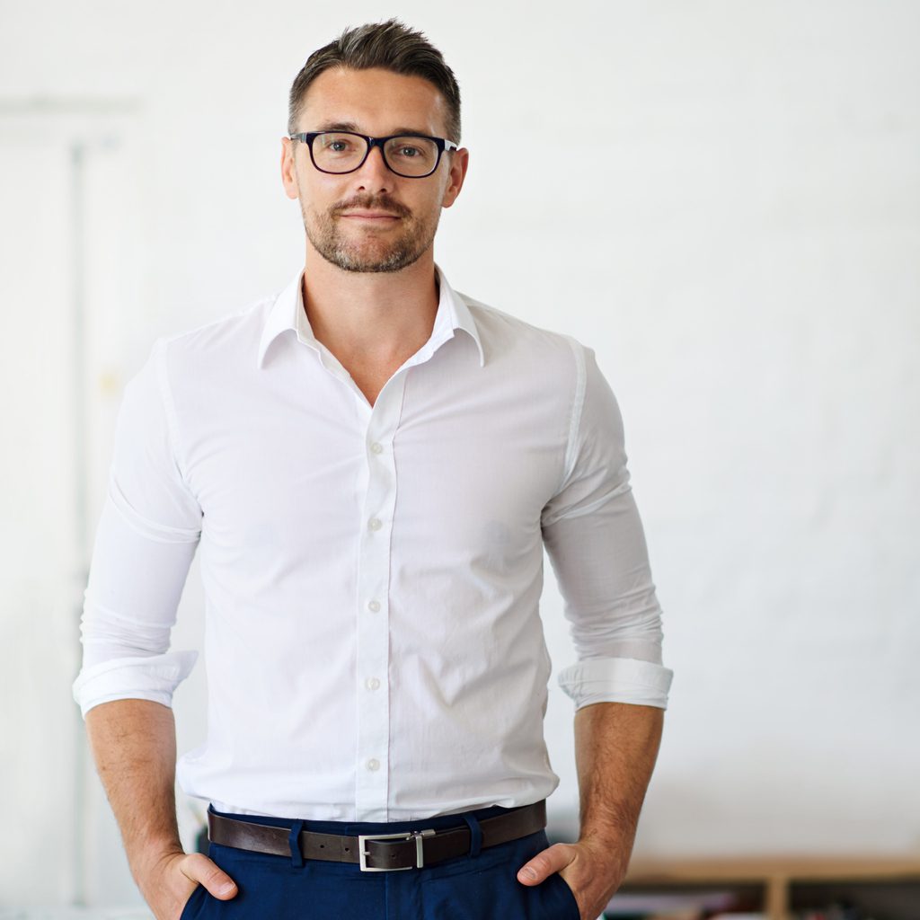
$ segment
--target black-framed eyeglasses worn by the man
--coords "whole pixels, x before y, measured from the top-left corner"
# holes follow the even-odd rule
[[[425,178],[438,168],[445,150],[457,149],[453,141],[427,134],[371,137],[351,131],[308,131],[288,137],[309,147],[310,159],[320,172],[334,175],[360,169],[371,150],[380,147],[384,163],[391,172],[405,178]]]

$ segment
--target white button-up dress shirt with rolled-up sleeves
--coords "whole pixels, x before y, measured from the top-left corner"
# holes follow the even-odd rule
[[[546,545],[576,706],[664,707],[661,611],[592,351],[455,293],[372,407],[301,276],[159,339],[125,390],[82,620],[86,711],[170,706],[196,547],[207,739],[178,782],[222,811],[405,821],[544,799]]]

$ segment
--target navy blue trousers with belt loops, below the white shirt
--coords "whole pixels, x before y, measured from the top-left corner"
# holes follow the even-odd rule
[[[475,853],[476,820],[502,811],[507,810],[495,806],[467,812],[474,829],[471,854],[403,872],[362,872],[349,863],[304,860],[299,852],[271,856],[212,843],[208,856],[236,881],[236,897],[220,901],[199,885],[179,920],[579,920],[575,897],[560,876],[532,888],[516,878],[518,869],[548,845],[545,832]],[[254,815],[226,816],[293,824]],[[464,820],[448,815],[395,823],[306,821],[303,826],[321,834],[396,834],[456,827]]]

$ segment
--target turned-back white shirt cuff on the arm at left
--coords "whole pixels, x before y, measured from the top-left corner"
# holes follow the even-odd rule
[[[99,703],[115,699],[149,699],[172,705],[172,695],[191,673],[197,651],[172,651],[163,655],[113,658],[84,668],[73,693],[84,718]]]

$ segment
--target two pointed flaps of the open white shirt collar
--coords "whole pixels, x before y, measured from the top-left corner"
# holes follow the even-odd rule
[[[441,268],[437,265],[434,268],[438,272],[441,296],[438,301],[438,311],[434,316],[431,339],[429,339],[423,351],[428,351],[429,354],[433,353],[447,339],[452,339],[457,329],[462,329],[476,342],[477,351],[479,352],[479,366],[482,367],[486,362],[486,355],[485,351],[483,351],[482,340],[479,338],[476,320],[470,313],[464,299],[447,282],[447,278]],[[265,364],[265,355],[269,351],[270,344],[288,329],[293,329],[297,334],[297,338],[304,342],[305,345],[309,345],[316,350],[319,348],[319,343],[313,335],[310,320],[307,318],[306,310],[304,309],[303,278],[304,270],[302,269],[298,272],[297,277],[277,296],[274,304],[270,307],[269,315],[265,319],[265,325],[262,327],[262,335],[259,339],[259,368]]]

